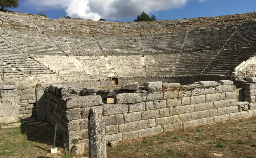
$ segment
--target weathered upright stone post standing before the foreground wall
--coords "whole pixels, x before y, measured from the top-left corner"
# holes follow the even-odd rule
[[[101,109],[91,108],[88,121],[89,158],[106,158],[105,126]]]

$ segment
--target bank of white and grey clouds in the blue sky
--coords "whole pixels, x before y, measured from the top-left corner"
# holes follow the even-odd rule
[[[25,0],[37,10],[65,9],[67,16],[98,20],[122,19],[158,10],[180,8],[188,0]],[[204,0],[199,0],[203,2]]]

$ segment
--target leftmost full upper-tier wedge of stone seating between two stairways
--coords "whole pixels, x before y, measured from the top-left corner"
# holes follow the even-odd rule
[[[27,54],[62,54],[59,47],[42,33],[0,30],[1,36]]]

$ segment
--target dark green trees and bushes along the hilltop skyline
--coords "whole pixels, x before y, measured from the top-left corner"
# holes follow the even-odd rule
[[[3,10],[4,8],[9,9],[9,8],[17,8],[17,7],[19,7],[19,0],[0,0],[0,9],[1,10]],[[44,12],[41,12],[37,15],[47,17]],[[65,19],[80,19],[80,18],[71,18],[70,16],[65,16],[64,18]],[[155,17],[154,14],[150,17],[145,12],[142,12],[140,15],[137,16],[136,19],[134,19],[135,22],[156,21],[156,20],[157,20],[157,18]],[[99,21],[106,21],[106,20],[101,18],[101,19],[99,19]],[[119,22],[119,21],[117,21],[117,22]]]

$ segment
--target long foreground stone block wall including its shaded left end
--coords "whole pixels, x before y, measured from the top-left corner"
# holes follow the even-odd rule
[[[108,90],[82,90],[80,95],[85,96],[79,96],[74,90],[50,86],[45,90],[47,118],[58,124],[62,140],[72,150],[88,147],[91,107],[102,110],[106,143],[256,115],[251,103],[240,110],[248,102],[237,101],[236,87],[229,80],[192,85],[149,82],[139,90],[135,85],[113,91],[113,104],[103,104],[104,98],[96,95]]]

